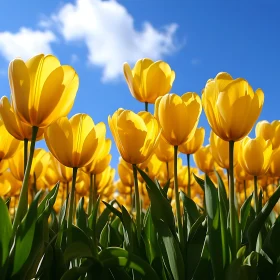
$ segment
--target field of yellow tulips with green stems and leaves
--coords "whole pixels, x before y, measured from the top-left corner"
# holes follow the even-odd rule
[[[10,62],[0,279],[280,279],[280,121],[259,120],[263,91],[221,72],[179,96],[171,67],[147,58],[123,72],[143,111],[96,124],[67,117],[71,66],[44,54]]]

